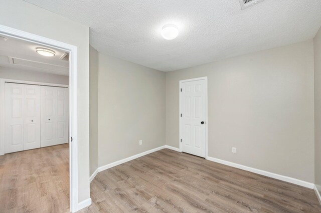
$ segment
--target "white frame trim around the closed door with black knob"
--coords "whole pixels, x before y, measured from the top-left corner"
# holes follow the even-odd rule
[[[205,80],[205,159],[208,158],[208,95],[207,95],[207,76],[205,77],[196,77],[196,78],[190,78],[190,79],[185,79],[185,80],[180,80],[180,88],[179,88],[179,92],[180,92],[180,99],[179,99],[179,120],[180,120],[180,125],[179,125],[179,132],[180,132],[180,138],[179,138],[179,144],[180,144],[180,152],[182,152],[182,142],[181,142],[181,138],[182,138],[182,132],[181,132],[181,125],[182,125],[182,119],[181,119],[181,113],[182,113],[182,103],[181,103],[181,99],[182,99],[182,95],[181,95],[181,88],[182,88],[182,83],[184,82],[189,82],[189,81],[195,81],[195,80]]]

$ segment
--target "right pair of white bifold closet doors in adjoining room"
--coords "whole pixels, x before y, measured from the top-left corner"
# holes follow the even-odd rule
[[[68,142],[68,88],[41,86],[41,147]]]

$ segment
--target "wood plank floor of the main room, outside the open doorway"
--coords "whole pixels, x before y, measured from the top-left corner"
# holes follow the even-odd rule
[[[80,212],[321,212],[312,189],[170,149],[101,171]]]

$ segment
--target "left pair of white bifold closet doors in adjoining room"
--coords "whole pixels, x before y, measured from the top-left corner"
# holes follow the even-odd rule
[[[40,86],[5,84],[5,153],[40,147]]]

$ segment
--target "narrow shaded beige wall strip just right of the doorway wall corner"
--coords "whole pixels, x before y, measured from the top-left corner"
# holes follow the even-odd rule
[[[89,46],[89,160],[90,175],[98,167],[98,52]]]

